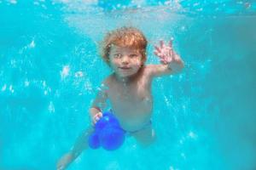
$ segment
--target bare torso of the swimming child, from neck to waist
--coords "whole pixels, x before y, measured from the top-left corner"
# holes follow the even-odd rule
[[[138,130],[150,121],[153,107],[151,80],[144,68],[129,82],[121,82],[114,74],[106,82],[113,114],[125,130]]]

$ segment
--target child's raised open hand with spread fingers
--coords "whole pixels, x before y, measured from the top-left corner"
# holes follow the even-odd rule
[[[160,40],[160,46],[154,46],[154,54],[160,58],[160,62],[164,65],[172,62],[181,63],[182,59],[176,54],[172,48],[172,40],[166,45],[163,40]]]

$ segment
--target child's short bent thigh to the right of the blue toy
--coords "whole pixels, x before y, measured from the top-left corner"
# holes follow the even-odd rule
[[[153,144],[155,140],[155,133],[152,126],[143,128],[142,130],[137,131],[136,133],[131,133],[131,135],[137,139],[137,141],[143,146],[148,146]]]

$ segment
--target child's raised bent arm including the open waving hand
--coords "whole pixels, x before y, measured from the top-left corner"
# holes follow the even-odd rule
[[[160,41],[160,46],[154,46],[154,54],[160,58],[160,65],[147,65],[151,77],[175,74],[180,72],[184,65],[183,60],[172,48],[172,40],[166,45]]]

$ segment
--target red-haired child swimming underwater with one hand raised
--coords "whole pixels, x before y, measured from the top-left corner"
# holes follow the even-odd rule
[[[171,75],[182,71],[183,60],[168,44],[160,41],[154,46],[154,54],[160,58],[159,65],[145,65],[148,42],[142,31],[134,27],[121,27],[108,32],[102,42],[102,59],[113,73],[103,82],[101,90],[90,106],[90,119],[93,126],[88,127],[74,144],[73,149],[62,156],[57,169],[65,169],[83,150],[88,149],[88,138],[94,125],[102,117],[109,100],[114,116],[120,126],[139,144],[147,146],[155,139],[151,117],[153,96],[151,84],[154,77]]]

